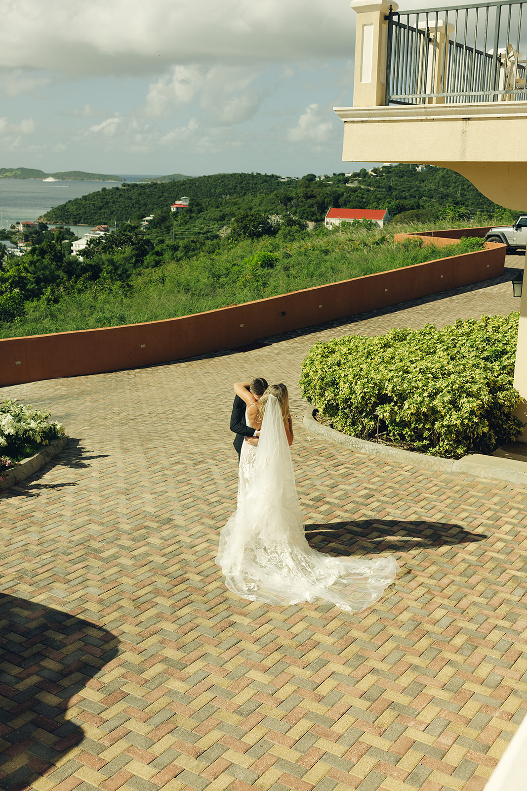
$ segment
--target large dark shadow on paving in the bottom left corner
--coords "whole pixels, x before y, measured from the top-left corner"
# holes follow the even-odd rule
[[[70,698],[118,653],[111,632],[67,612],[0,595],[0,788],[28,789],[84,738]]]

